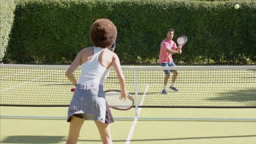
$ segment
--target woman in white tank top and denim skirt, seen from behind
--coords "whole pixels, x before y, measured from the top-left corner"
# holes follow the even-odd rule
[[[90,28],[90,40],[93,47],[80,51],[66,71],[68,79],[76,86],[68,108],[69,134],[66,143],[77,143],[80,129],[85,120],[95,121],[102,143],[112,143],[110,123],[113,116],[105,99],[103,83],[112,66],[118,75],[121,99],[126,99],[125,77],[118,56],[108,50],[117,38],[117,28],[108,19],[96,20]],[[82,65],[79,81],[73,72]]]

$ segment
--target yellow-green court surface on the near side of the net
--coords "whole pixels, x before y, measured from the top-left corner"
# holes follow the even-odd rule
[[[148,109],[135,124],[134,109],[117,111],[111,125],[114,143],[254,143],[254,109]],[[65,143],[67,107],[1,107],[1,143]],[[22,117],[17,117],[22,116]],[[27,116],[27,117],[26,117]],[[28,117],[29,116],[29,117]],[[134,128],[133,131],[131,129]],[[129,135],[131,137],[129,138]],[[78,143],[101,143],[86,121]]]

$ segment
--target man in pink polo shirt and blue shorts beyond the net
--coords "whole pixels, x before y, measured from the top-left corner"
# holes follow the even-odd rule
[[[182,50],[179,47],[177,47],[176,43],[172,40],[173,35],[174,35],[174,30],[168,29],[167,38],[164,39],[161,43],[160,56],[159,56],[159,63],[161,64],[161,67],[175,67],[176,65],[173,62],[172,54],[182,53]],[[171,72],[173,72],[173,76],[172,76],[172,84],[170,86],[170,89],[178,92],[178,89],[174,86],[175,80],[178,76],[178,71],[164,70],[164,72],[165,72],[165,80],[164,80],[164,88],[162,89],[162,94],[167,94],[166,85]]]

